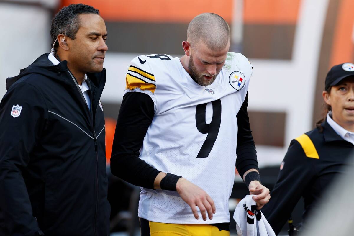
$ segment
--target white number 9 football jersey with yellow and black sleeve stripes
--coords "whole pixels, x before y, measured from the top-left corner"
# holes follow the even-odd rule
[[[227,54],[219,75],[206,87],[194,82],[178,57],[156,54],[131,61],[125,92],[147,93],[154,102],[154,117],[140,158],[159,171],[181,175],[198,185],[216,207],[212,220],[196,220],[177,192],[141,188],[139,217],[175,224],[230,222],[236,115],[245,100],[251,74],[247,58],[233,52]]]

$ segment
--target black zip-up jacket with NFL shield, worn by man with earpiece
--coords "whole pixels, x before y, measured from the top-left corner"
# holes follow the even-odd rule
[[[7,79],[0,104],[5,235],[108,235],[105,69],[87,74],[90,111],[67,62],[47,57]]]

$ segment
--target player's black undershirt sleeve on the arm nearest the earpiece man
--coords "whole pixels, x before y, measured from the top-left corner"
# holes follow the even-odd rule
[[[126,93],[119,110],[110,159],[112,174],[148,189],[154,188],[160,171],[141,160],[139,150],[153,116],[154,102],[148,94]]]

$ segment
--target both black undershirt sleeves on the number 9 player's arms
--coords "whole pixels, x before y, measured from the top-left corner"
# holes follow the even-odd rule
[[[256,148],[247,114],[247,100],[248,92],[236,117],[238,122],[236,168],[241,177],[251,168],[258,169]],[[139,150],[153,116],[154,103],[148,94],[126,93],[119,110],[110,159],[112,174],[148,189],[153,189],[154,180],[160,171],[141,160]]]

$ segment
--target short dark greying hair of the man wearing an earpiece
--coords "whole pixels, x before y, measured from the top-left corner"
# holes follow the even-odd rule
[[[52,44],[57,39],[58,34],[66,33],[66,36],[70,39],[75,39],[75,35],[80,28],[80,14],[97,14],[99,11],[89,5],[85,4],[70,4],[63,7],[53,18],[52,25],[50,27],[50,36],[52,38]],[[54,48],[58,47],[58,42],[55,43]]]

